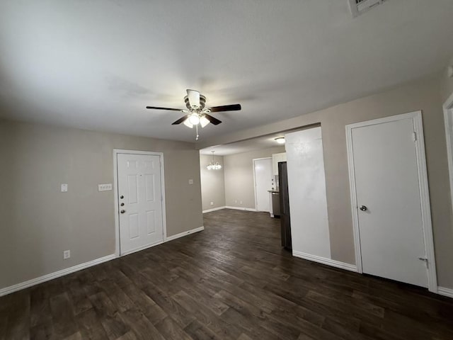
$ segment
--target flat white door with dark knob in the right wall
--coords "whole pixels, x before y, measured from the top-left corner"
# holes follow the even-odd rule
[[[428,287],[413,118],[351,134],[362,271]]]

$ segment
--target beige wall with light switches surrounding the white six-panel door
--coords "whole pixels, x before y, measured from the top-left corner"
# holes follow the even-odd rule
[[[202,226],[193,144],[0,120],[0,288],[115,252],[113,149],[164,152],[168,236]]]

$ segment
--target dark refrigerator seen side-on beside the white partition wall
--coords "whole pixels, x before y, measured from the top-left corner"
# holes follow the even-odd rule
[[[280,187],[280,227],[282,246],[292,249],[291,220],[289,218],[288,171],[286,162],[278,163],[278,183]]]

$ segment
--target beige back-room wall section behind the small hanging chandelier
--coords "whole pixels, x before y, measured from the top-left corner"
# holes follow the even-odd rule
[[[220,170],[208,170],[212,156],[200,154],[201,198],[203,210],[225,206],[224,157],[214,156],[214,162],[222,165]],[[214,205],[211,205],[211,202]]]

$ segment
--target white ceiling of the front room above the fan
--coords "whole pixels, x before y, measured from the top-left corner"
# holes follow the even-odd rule
[[[445,67],[452,0],[3,0],[0,116],[193,141],[185,89],[216,113],[201,138],[348,101]]]

